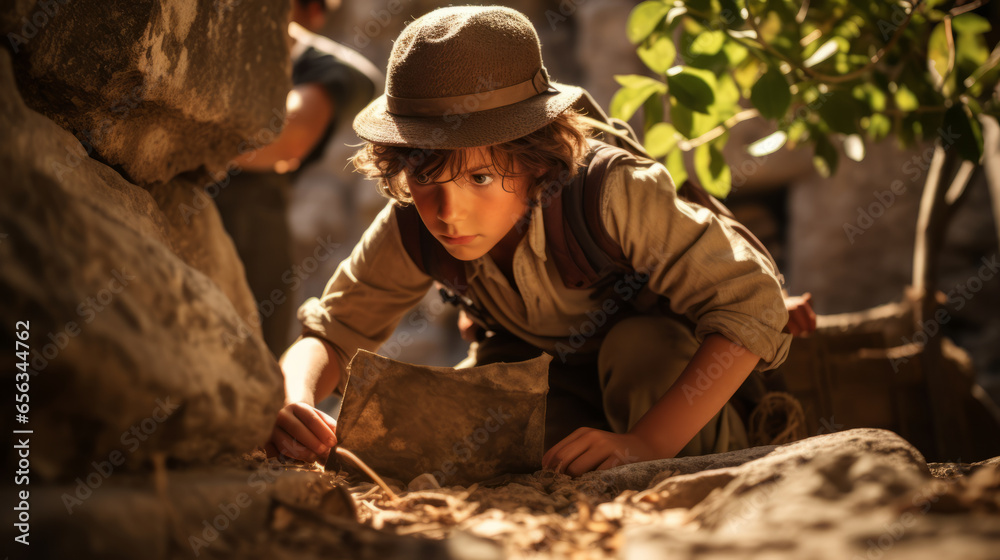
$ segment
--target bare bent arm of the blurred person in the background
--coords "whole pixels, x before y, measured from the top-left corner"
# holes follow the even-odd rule
[[[293,171],[309,155],[333,120],[333,100],[319,84],[288,92],[285,125],[273,142],[240,153],[233,162],[250,171]]]

